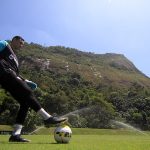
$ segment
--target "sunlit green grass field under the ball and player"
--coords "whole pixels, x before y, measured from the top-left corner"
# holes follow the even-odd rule
[[[38,135],[24,135],[30,143],[8,143],[8,135],[0,135],[0,150],[150,150],[150,134],[127,130],[72,129],[69,144],[57,144],[53,129],[41,129]],[[41,135],[45,134],[45,135]]]

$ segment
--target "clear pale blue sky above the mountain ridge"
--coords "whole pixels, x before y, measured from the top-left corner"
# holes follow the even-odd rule
[[[150,0],[1,0],[0,40],[123,54],[150,77]]]

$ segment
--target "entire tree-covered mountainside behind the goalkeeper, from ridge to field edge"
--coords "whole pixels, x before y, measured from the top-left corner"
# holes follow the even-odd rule
[[[20,73],[38,84],[35,95],[48,112],[64,115],[88,110],[70,115],[72,126],[111,128],[109,121],[119,119],[150,129],[150,79],[125,56],[34,43],[26,43],[17,55]],[[0,124],[13,124],[18,108],[0,89]],[[42,123],[30,111],[26,130]]]

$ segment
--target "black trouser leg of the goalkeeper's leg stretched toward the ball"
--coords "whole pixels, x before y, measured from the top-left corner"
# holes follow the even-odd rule
[[[39,102],[26,82],[18,79],[16,73],[10,69],[3,71],[0,74],[2,88],[8,91],[21,105],[26,104],[35,111],[41,109]]]

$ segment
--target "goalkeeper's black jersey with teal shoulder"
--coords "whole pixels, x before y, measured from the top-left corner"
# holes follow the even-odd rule
[[[11,69],[18,74],[18,59],[7,41],[0,41],[0,74]]]

